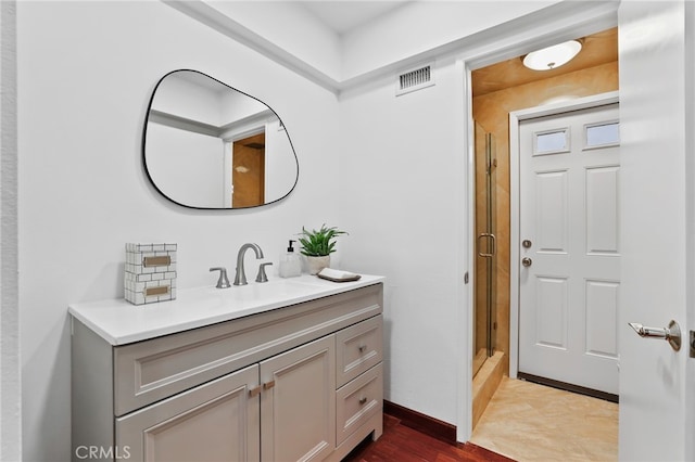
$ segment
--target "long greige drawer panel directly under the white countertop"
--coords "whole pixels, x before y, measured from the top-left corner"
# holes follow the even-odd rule
[[[381,305],[381,284],[376,284],[115,347],[114,413],[124,415],[343,328],[352,329],[380,313]]]

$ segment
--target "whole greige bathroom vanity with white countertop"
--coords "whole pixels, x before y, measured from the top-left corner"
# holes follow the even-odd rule
[[[71,305],[73,460],[341,460],[382,433],[382,285]]]

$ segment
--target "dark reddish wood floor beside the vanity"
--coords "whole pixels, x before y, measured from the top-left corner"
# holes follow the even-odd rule
[[[392,415],[383,414],[383,435],[367,438],[343,462],[514,462],[476,445],[452,446],[416,429]]]

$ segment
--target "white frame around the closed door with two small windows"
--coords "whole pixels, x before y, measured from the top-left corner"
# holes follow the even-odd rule
[[[595,94],[556,104],[529,107],[509,113],[509,377],[519,369],[519,124],[535,117],[557,115],[618,102],[618,91]]]

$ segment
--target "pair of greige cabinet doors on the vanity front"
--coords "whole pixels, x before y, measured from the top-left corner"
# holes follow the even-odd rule
[[[118,418],[116,447],[147,462],[321,461],[336,446],[334,345],[329,335]]]

